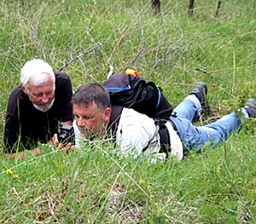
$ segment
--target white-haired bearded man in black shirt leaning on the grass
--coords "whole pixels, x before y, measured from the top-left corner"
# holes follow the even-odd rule
[[[9,158],[26,158],[25,149],[41,155],[37,142],[54,145],[58,123],[73,122],[73,90],[66,73],[34,59],[22,67],[20,81],[9,95],[6,114],[4,151]]]

